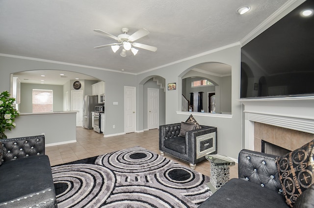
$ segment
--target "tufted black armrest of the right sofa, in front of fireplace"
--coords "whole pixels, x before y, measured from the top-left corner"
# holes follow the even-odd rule
[[[276,158],[277,156],[274,155],[241,150],[238,158],[239,179],[257,183],[262,187],[281,193]]]

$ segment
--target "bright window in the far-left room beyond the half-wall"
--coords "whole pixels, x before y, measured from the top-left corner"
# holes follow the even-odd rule
[[[33,113],[52,112],[53,91],[33,89],[32,104],[33,104]]]

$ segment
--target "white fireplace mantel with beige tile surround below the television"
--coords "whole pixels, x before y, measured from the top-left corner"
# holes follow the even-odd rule
[[[314,139],[314,97],[238,100],[244,104],[245,149],[261,140],[295,150]]]

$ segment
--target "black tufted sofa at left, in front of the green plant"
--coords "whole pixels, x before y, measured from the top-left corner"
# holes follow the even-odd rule
[[[45,136],[0,140],[0,208],[57,208]]]

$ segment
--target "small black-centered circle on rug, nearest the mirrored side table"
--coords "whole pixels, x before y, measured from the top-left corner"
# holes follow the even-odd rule
[[[198,187],[205,181],[204,175],[189,170],[180,164],[174,164],[174,167],[167,169],[163,173],[157,173],[155,179],[158,183],[175,189]],[[178,183],[180,183],[180,186]]]

